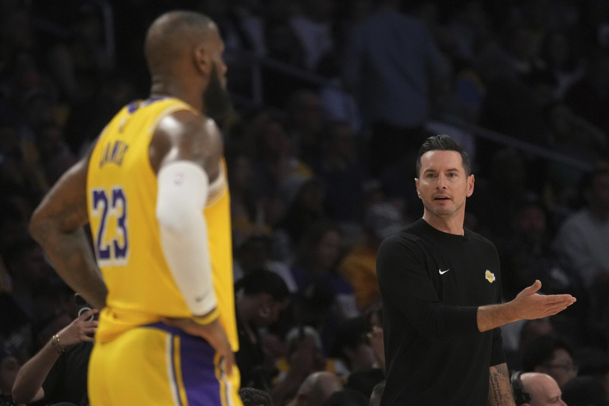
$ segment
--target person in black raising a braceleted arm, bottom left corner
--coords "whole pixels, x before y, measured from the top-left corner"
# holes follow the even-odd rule
[[[97,310],[84,312],[23,365],[13,385],[15,402],[80,404],[86,395],[87,369],[97,329],[97,321],[92,318],[96,314]]]

